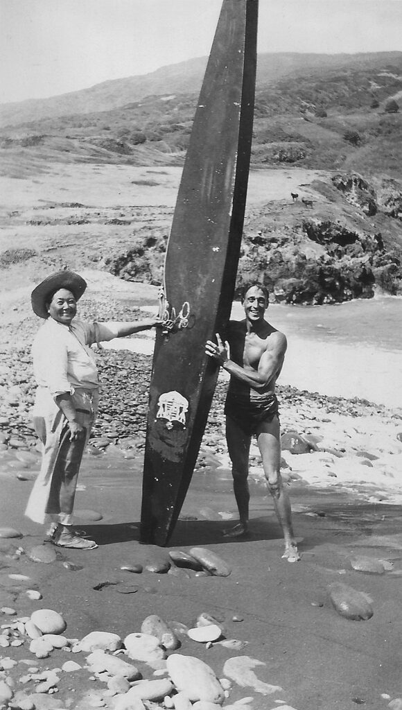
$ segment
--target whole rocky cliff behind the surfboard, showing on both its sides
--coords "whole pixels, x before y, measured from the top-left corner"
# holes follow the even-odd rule
[[[322,304],[402,294],[402,189],[356,173],[317,180],[309,197],[268,202],[246,218],[237,293],[258,280],[273,302]],[[109,271],[161,283],[168,234],[148,229],[129,251],[109,256]]]

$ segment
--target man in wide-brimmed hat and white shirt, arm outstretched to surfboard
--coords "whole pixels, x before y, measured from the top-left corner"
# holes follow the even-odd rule
[[[26,507],[36,523],[50,521],[50,540],[60,547],[93,550],[72,528],[82,454],[97,414],[99,378],[93,343],[124,337],[162,324],[159,317],[134,322],[87,322],[75,317],[87,283],[72,271],[45,278],[31,295],[33,311],[45,322],[33,342],[38,384],[33,425],[43,444],[40,473]]]

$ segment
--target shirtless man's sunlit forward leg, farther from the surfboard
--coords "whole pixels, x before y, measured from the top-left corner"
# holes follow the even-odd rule
[[[297,562],[300,555],[293,535],[292,511],[281,478],[281,429],[277,416],[273,417],[271,422],[262,422],[257,432],[257,441],[268,491],[273,498],[276,517],[283,530],[285,552],[282,557],[288,559],[288,562]]]

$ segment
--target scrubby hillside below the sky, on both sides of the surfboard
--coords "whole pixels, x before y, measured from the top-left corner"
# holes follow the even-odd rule
[[[32,102],[3,107],[9,119],[14,111],[13,125],[1,129],[3,174],[36,160],[180,165],[204,67],[205,59],[192,60],[47,99],[40,111],[49,115],[35,121],[18,123]],[[402,111],[386,106],[400,94],[402,53],[261,55],[252,161],[399,179]],[[59,112],[80,112],[53,116],[55,102]]]

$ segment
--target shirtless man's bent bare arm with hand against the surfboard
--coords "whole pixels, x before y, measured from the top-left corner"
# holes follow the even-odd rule
[[[281,370],[286,353],[286,337],[279,332],[274,335],[273,341],[270,342],[266,351],[261,355],[259,367],[256,371],[246,370],[229,359],[228,344],[223,344],[218,334],[217,344],[208,340],[205,352],[217,360],[219,365],[229,372],[231,376],[249,385],[254,390],[264,390],[271,379]],[[272,337],[273,335],[271,335]]]

